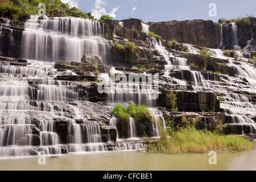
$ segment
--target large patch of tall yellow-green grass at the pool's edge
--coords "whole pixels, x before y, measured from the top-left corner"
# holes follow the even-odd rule
[[[164,154],[188,154],[188,153],[217,153],[239,152],[251,150],[253,143],[244,137],[227,136],[218,131],[197,130],[195,126],[188,126],[177,131],[160,130],[161,138],[158,142],[148,143],[148,152]],[[170,137],[168,137],[170,136]]]

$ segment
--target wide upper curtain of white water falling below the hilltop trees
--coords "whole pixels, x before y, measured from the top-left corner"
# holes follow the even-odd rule
[[[104,39],[104,24],[90,19],[31,16],[22,34],[22,57],[39,61],[76,61],[85,53],[110,58],[110,44]]]

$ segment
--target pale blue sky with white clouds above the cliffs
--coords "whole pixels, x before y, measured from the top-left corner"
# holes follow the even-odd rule
[[[220,18],[233,19],[253,14],[256,16],[256,1],[246,0],[61,0],[71,2],[79,9],[93,13],[96,18],[110,14],[114,19],[138,18],[144,22],[167,20],[204,19],[217,22]],[[217,6],[217,16],[209,16],[209,4]]]

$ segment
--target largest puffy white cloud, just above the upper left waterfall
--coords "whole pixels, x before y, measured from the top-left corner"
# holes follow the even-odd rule
[[[104,14],[108,14],[113,18],[116,18],[115,13],[120,8],[120,6],[114,7],[112,11],[106,13],[106,9],[104,8],[105,5],[108,5],[108,3],[106,3],[104,0],[96,0],[94,3],[94,7],[92,8],[92,15],[97,19],[101,18],[101,15]]]

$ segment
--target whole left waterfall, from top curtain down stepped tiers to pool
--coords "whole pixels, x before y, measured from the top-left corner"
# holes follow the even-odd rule
[[[0,157],[144,148],[142,142],[103,143],[101,125],[83,114],[88,108],[79,101],[85,94],[81,84],[56,80],[76,74],[46,63],[80,61],[84,53],[108,61],[112,51],[104,39],[104,24],[37,18],[28,20],[22,40],[23,57],[36,61],[0,63]]]

